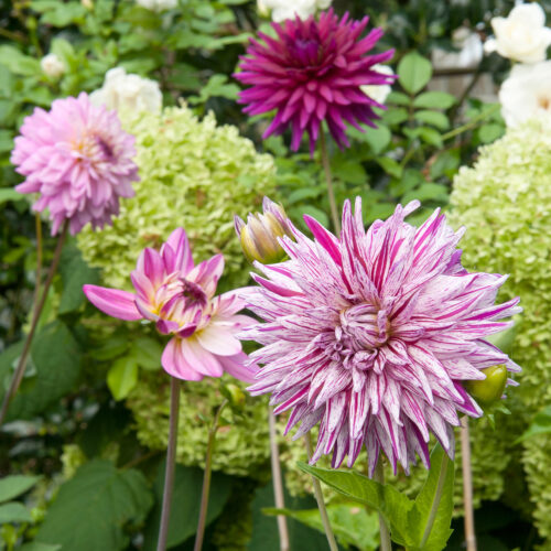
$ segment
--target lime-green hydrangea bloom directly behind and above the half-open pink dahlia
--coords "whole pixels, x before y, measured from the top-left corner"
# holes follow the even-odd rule
[[[182,226],[197,261],[224,253],[226,289],[245,284],[249,270],[234,214],[245,216],[263,195],[274,196],[272,156],[257,153],[236,127],[217,126],[212,114],[199,120],[185,106],[126,118],[125,128],[136,136],[141,181],[111,227],[79,234],[84,258],[102,269],[105,284],[129,289],[141,250]]]

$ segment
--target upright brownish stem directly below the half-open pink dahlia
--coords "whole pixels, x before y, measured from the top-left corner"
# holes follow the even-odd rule
[[[163,506],[156,551],[166,549],[169,522],[171,517],[172,489],[174,487],[174,467],[176,463],[177,421],[180,417],[180,379],[171,377],[171,410],[169,425],[169,446],[166,449],[166,465],[164,467]]]

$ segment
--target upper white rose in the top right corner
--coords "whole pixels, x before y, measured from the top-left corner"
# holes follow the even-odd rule
[[[545,26],[545,13],[537,3],[516,6],[508,18],[494,18],[495,40],[486,42],[487,53],[497,53],[522,63],[538,63],[545,58],[551,44],[551,29]]]

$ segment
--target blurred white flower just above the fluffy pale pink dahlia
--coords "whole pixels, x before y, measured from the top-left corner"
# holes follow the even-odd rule
[[[106,73],[104,86],[90,94],[90,101],[118,111],[160,112],[163,96],[158,82],[127,75],[122,67],[116,67]]]

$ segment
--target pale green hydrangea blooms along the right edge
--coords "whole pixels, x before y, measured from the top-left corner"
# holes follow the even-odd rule
[[[511,486],[511,473],[522,476],[515,439],[536,411],[551,403],[551,125],[532,121],[482,148],[474,168],[461,169],[455,177],[451,206],[452,225],[467,228],[464,266],[509,273],[499,298],[520,295],[523,307],[512,349],[523,371],[517,377],[520,387],[509,389],[507,400],[512,414],[500,417],[496,432],[472,423],[475,493],[497,499]],[[525,446],[522,464],[536,522],[551,542],[551,454],[544,453],[551,439],[541,436]],[[521,480],[516,486],[521,488]],[[529,499],[517,495],[515,501]]]

